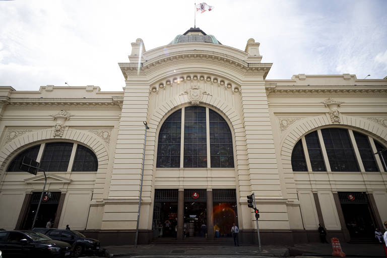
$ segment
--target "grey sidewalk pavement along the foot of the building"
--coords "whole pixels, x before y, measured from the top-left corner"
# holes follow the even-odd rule
[[[308,256],[327,257],[332,255],[331,244],[309,243],[295,246],[264,245],[262,251],[255,245],[190,245],[190,244],[146,244],[134,248],[133,245],[105,246],[106,257],[287,257]],[[385,257],[381,244],[342,243],[347,257]]]

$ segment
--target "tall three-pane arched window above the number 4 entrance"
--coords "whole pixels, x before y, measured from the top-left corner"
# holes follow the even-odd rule
[[[161,126],[156,167],[234,167],[230,127],[221,115],[206,107],[175,111]]]

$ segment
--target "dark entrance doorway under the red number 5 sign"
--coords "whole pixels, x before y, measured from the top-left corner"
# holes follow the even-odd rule
[[[339,192],[338,195],[351,238],[373,238],[376,224],[367,193]]]

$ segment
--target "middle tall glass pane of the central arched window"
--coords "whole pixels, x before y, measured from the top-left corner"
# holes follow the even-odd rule
[[[206,108],[184,109],[184,167],[207,167]]]

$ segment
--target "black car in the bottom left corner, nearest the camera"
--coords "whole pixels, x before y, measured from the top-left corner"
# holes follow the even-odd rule
[[[8,257],[70,257],[71,245],[39,232],[0,231],[0,250]]]

